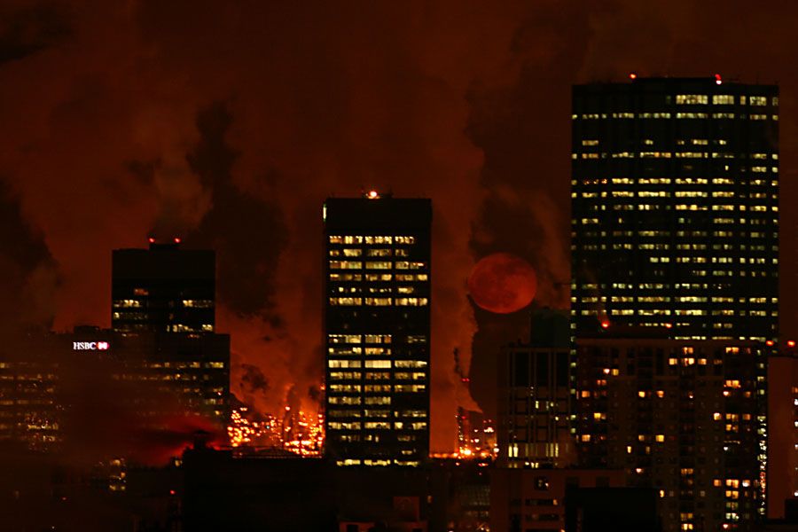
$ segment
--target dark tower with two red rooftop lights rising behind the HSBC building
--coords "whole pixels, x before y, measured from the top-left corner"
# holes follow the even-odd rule
[[[114,331],[214,331],[213,251],[151,239],[149,249],[115,249],[112,278]]]

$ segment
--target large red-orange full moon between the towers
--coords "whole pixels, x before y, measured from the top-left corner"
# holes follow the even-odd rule
[[[509,314],[523,309],[535,297],[537,276],[532,266],[509,253],[489,254],[477,262],[468,277],[468,291],[482,309]]]

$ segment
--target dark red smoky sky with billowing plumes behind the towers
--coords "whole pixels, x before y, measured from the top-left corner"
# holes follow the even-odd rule
[[[323,373],[325,198],[432,198],[433,448],[450,450],[456,406],[489,413],[497,346],[528,322],[474,312],[474,259],[518,254],[541,278],[538,302],[567,304],[570,86],[630,70],[778,80],[791,168],[798,52],[778,40],[791,35],[783,14],[629,0],[4,2],[0,176],[21,228],[0,250],[6,293],[59,330],[108,325],[110,250],[179,233],[218,252],[233,390],[254,367],[269,382],[251,392],[259,409],[292,389],[309,408]],[[490,339],[472,357],[478,326]]]

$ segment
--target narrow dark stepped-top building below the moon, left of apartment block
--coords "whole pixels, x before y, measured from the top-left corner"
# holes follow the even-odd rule
[[[567,311],[533,312],[531,342],[498,358],[498,465],[538,468],[575,463],[575,369]]]

